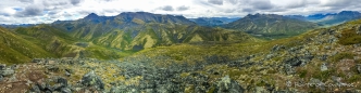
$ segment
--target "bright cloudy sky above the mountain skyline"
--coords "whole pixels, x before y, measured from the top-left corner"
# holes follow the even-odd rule
[[[361,11],[361,0],[0,0],[0,24],[78,19],[89,13],[114,16],[151,12],[186,17],[242,17],[247,14],[310,15]]]

